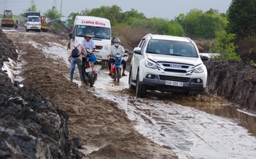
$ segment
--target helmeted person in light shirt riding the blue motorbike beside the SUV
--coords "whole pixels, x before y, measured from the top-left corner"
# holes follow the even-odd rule
[[[120,39],[119,38],[114,38],[114,44],[110,47],[109,57],[111,57],[113,54],[117,54],[117,52],[120,52],[121,54],[124,54],[125,57],[128,57],[128,54],[125,54],[125,49],[123,48],[122,45],[120,45]],[[110,68],[111,68],[111,63],[114,63],[114,62],[115,62],[114,58],[110,58],[108,60],[109,76],[112,75]],[[123,74],[122,74],[122,76],[126,76],[125,75],[126,61],[122,60],[122,64],[123,64]]]

